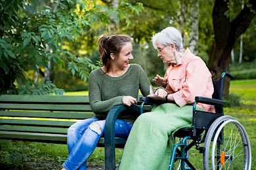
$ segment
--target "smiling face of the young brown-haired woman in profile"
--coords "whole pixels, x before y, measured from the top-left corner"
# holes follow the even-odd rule
[[[129,61],[133,59],[133,46],[131,42],[127,42],[124,46],[122,46],[119,56],[114,58],[114,63],[117,67],[128,67]]]

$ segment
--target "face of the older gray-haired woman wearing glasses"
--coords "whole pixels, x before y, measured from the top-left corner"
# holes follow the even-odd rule
[[[158,57],[163,60],[163,63],[176,63],[176,58],[170,45],[165,46],[160,42],[156,42],[156,46],[158,48]]]

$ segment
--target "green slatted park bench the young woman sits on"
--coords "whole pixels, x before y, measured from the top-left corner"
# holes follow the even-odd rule
[[[125,145],[125,139],[114,136],[114,126],[127,109],[140,112],[136,105],[117,105],[108,112],[97,145],[105,148],[105,169],[116,169],[115,147]],[[0,95],[0,139],[66,144],[68,127],[94,115],[88,95]]]

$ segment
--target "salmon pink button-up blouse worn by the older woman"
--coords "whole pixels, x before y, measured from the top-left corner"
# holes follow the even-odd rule
[[[212,97],[213,82],[211,73],[204,61],[192,54],[188,48],[185,48],[184,56],[177,65],[167,66],[165,72],[167,79],[166,90],[173,93],[175,103],[179,107],[186,104],[192,104],[196,96]],[[213,106],[198,103],[198,107],[213,112]]]

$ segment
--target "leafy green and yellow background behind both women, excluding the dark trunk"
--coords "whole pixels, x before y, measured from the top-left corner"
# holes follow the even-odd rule
[[[212,19],[215,0],[198,2],[198,56],[207,63],[215,41]],[[247,3],[244,1],[246,7]],[[98,67],[97,40],[102,34],[131,36],[133,62],[142,65],[150,79],[156,73],[163,75],[165,69],[150,39],[161,29],[174,26],[182,31],[184,46],[190,46],[193,4],[194,0],[2,0],[0,93],[47,94],[43,86],[56,94],[63,90],[87,90],[87,77]],[[241,6],[242,0],[229,1],[226,16],[230,22]],[[255,22],[254,17],[243,33],[242,62],[249,65],[256,58]],[[234,44],[235,64],[239,53],[240,39]],[[255,69],[251,69],[236,78],[255,75]]]

